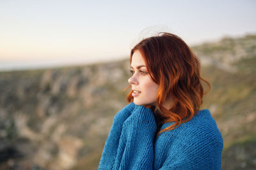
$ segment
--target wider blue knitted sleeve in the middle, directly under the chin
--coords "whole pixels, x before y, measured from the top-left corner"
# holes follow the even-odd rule
[[[136,105],[124,122],[114,169],[153,169],[156,129],[152,111]]]

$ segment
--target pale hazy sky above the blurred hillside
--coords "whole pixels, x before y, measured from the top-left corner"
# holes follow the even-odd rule
[[[189,46],[256,33],[256,1],[0,0],[0,71],[128,58],[172,32]]]

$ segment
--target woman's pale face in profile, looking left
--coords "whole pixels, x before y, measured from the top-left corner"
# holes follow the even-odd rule
[[[134,104],[144,105],[156,103],[156,94],[159,85],[150,78],[145,61],[138,50],[132,55],[131,73],[132,76],[128,82],[132,86]]]

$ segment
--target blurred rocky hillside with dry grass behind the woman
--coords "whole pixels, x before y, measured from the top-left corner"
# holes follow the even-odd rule
[[[256,35],[192,49],[211,83],[202,109],[223,135],[223,169],[255,169]],[[0,73],[0,169],[97,169],[128,78],[128,60]]]

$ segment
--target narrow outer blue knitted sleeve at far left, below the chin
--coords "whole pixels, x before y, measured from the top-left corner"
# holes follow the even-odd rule
[[[113,164],[116,159],[116,153],[120,141],[122,132],[122,126],[124,121],[131,116],[132,110],[134,110],[135,104],[130,103],[125,106],[122,110],[116,113],[111,130],[106,140],[98,169],[113,169]]]

